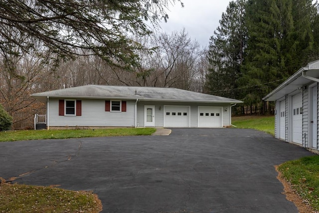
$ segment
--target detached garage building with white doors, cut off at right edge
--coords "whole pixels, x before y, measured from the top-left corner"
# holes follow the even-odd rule
[[[318,152],[319,60],[302,67],[263,98],[276,102],[275,137]]]

